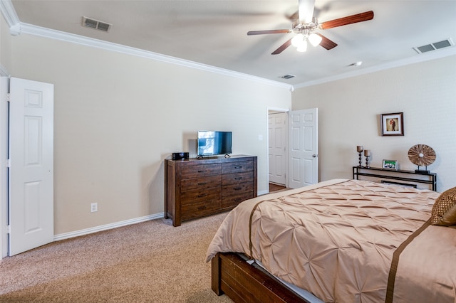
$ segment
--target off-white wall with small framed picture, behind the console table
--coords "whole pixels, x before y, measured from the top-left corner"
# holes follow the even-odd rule
[[[392,159],[414,170],[408,149],[427,144],[437,154],[428,166],[437,191],[456,186],[455,66],[453,55],[295,90],[293,110],[318,107],[321,181],[351,178],[357,145],[371,149],[371,166]],[[405,135],[382,137],[380,114],[393,112],[404,113]]]

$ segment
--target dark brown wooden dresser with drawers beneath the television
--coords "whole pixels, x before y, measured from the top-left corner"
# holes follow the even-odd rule
[[[257,156],[165,160],[165,218],[174,226],[256,196]]]

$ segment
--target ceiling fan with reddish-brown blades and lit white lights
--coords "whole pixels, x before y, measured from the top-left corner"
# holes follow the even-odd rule
[[[296,35],[286,41],[284,44],[274,50],[271,55],[278,55],[290,45],[296,46],[298,51],[307,50],[307,41],[313,46],[322,46],[327,50],[331,50],[337,46],[336,43],[329,40],[321,33],[314,33],[314,31],[344,26],[352,23],[358,23],[373,19],[373,11],[366,11],[361,14],[337,18],[331,21],[318,23],[317,18],[314,18],[315,0],[299,0],[299,10],[296,11],[291,19],[294,20],[291,29],[272,29],[267,31],[249,31],[248,36],[264,35],[269,33],[296,33]]]

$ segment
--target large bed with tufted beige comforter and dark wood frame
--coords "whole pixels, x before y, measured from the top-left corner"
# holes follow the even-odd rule
[[[336,179],[244,201],[207,249],[212,289],[234,302],[456,302],[449,191]]]

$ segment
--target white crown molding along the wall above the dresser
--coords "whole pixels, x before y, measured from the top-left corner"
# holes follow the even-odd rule
[[[20,28],[21,28],[21,33],[26,33],[28,35],[33,35],[33,36],[41,36],[44,38],[51,38],[51,39],[56,39],[59,41],[66,41],[69,43],[76,43],[80,44],[83,46],[90,46],[93,48],[101,48],[104,50],[111,50],[115,51],[117,53],[125,53],[127,55],[135,55],[138,57],[142,58],[147,58],[150,60],[157,60],[157,61],[162,61],[166,63],[171,63],[175,65],[181,65],[185,66],[187,68],[195,68],[198,70],[205,70],[210,73],[218,73],[221,75],[227,75],[229,77],[234,77],[234,78],[240,78],[244,80],[250,80],[254,81],[257,83],[263,83],[266,85],[273,85],[276,87],[281,87],[285,88],[288,90],[292,90],[292,86],[286,83],[280,83],[278,81],[273,81],[273,80],[267,80],[264,78],[252,76],[252,75],[247,75],[244,73],[238,73],[234,72],[232,70],[226,70],[224,68],[216,68],[212,65],[205,65],[202,63],[196,63],[190,60],[184,60],[180,58],[175,58],[169,55],[162,55],[160,53],[153,53],[151,51],[147,50],[141,50],[139,48],[132,48],[130,46],[123,46],[120,44],[112,43],[112,42],[107,42],[107,41],[101,41],[98,39],[94,38],[88,38],[84,36],[79,36],[75,35],[73,33],[65,33],[63,31],[56,31],[53,29],[49,28],[43,28],[40,26],[34,26],[32,24],[28,23],[20,23]]]

